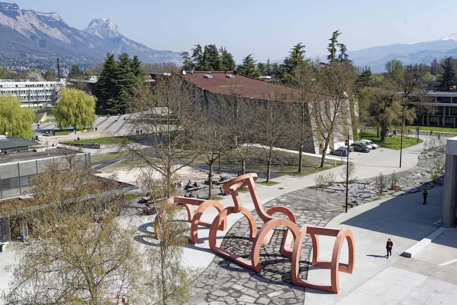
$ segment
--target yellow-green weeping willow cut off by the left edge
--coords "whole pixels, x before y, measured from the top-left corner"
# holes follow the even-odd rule
[[[21,107],[11,94],[0,96],[0,134],[29,138],[32,135],[33,113]]]

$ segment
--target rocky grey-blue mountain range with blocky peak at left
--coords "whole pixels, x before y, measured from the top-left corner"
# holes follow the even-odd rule
[[[65,23],[57,13],[21,10],[0,2],[0,65],[12,70],[47,69],[59,57],[62,67],[100,63],[106,53],[138,55],[143,63],[181,65],[181,52],[151,49],[118,31],[111,18],[94,19],[84,30]]]

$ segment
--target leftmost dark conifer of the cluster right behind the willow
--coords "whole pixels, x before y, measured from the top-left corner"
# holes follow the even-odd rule
[[[108,104],[117,97],[116,78],[117,62],[114,60],[114,54],[106,53],[106,60],[94,91],[98,107],[103,110],[107,109]]]

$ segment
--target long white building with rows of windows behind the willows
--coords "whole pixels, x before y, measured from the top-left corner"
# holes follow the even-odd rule
[[[11,94],[21,99],[22,106],[49,106],[58,102],[60,90],[66,87],[60,82],[19,82],[0,80],[0,94]]]

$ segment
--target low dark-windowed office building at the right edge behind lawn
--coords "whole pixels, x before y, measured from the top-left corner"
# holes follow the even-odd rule
[[[415,94],[411,94],[414,97]],[[457,127],[457,92],[428,92],[433,103],[430,107],[421,107],[417,112],[414,125]],[[414,101],[414,99],[413,99]]]

